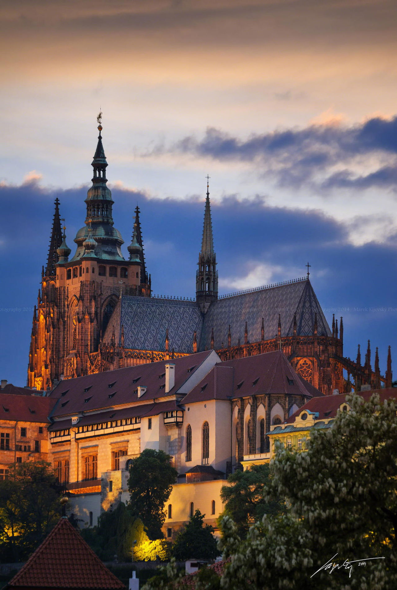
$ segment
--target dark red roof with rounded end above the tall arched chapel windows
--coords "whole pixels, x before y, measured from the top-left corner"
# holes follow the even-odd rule
[[[233,374],[227,373],[227,369],[231,369]],[[242,398],[261,394],[301,395],[306,398],[323,395],[297,375],[281,350],[274,350],[219,363],[181,403],[186,405],[206,399]]]

